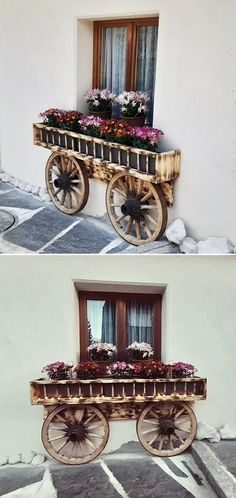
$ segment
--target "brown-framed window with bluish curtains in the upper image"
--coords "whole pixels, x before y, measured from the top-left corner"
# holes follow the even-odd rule
[[[94,22],[93,87],[148,92],[151,120],[157,32],[157,18]]]

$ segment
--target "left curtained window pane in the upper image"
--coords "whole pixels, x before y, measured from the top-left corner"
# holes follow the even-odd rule
[[[101,86],[119,94],[125,89],[127,28],[102,29]]]

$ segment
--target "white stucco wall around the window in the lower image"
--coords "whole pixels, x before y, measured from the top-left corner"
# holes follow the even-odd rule
[[[123,290],[127,284],[143,291],[166,286],[163,360],[193,362],[208,378],[208,399],[196,403],[198,419],[214,426],[235,422],[234,256],[2,256],[0,455],[42,449],[42,408],[30,406],[29,380],[49,362],[78,358],[75,280]],[[134,422],[113,422],[107,449],[134,437]]]

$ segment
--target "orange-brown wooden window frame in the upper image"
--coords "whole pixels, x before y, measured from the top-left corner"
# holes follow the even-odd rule
[[[139,26],[158,26],[158,17],[137,19],[115,19],[94,21],[93,23],[93,88],[101,88],[102,29],[114,27],[127,28],[126,84],[125,90],[135,89],[137,28]]]

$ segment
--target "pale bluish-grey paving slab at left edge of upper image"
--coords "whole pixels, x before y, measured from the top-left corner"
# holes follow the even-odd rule
[[[25,192],[23,193],[20,190],[14,188],[11,192],[1,194],[0,206],[37,209],[41,206],[45,206],[45,204],[36,199],[33,195],[27,194]]]

